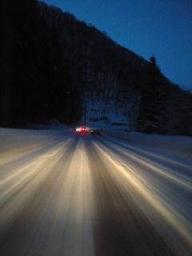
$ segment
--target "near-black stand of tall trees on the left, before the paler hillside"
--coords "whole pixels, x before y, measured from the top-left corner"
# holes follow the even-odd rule
[[[56,24],[42,18],[35,0],[2,1],[1,125],[74,123],[81,116]]]

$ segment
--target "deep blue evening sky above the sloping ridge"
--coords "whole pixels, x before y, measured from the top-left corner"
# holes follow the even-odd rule
[[[149,60],[192,89],[192,0],[44,0]]]

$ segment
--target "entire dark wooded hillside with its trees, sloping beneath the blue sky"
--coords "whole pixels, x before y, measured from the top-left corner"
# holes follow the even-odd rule
[[[192,96],[94,26],[36,0],[2,0],[0,125],[75,123],[83,98],[127,107],[135,129],[192,134]]]

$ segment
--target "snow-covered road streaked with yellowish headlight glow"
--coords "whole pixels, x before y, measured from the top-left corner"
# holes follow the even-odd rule
[[[109,135],[8,129],[0,143],[2,255],[191,255],[182,145],[171,154]]]

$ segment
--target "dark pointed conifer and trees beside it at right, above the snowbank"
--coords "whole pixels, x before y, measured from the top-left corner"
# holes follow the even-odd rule
[[[142,87],[137,130],[155,134],[192,134],[192,95],[162,76],[150,58]]]

